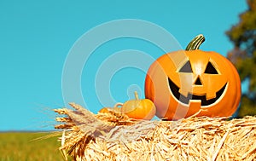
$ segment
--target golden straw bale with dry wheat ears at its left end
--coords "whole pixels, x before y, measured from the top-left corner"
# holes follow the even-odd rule
[[[139,121],[70,105],[55,110],[55,128],[65,131],[60,149],[73,160],[256,160],[255,117]]]

